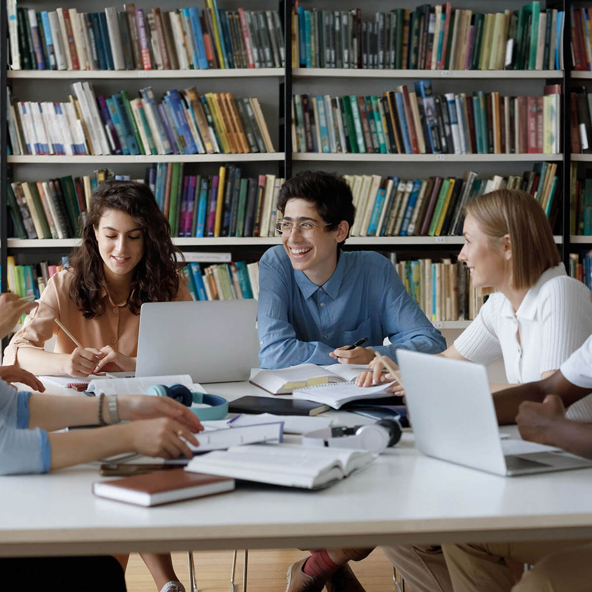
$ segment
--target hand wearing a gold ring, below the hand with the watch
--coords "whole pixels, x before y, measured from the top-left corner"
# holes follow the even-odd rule
[[[161,397],[146,397],[159,399]],[[175,401],[173,401],[174,403]],[[159,456],[161,458],[193,458],[193,452],[184,440],[199,446],[192,429],[169,417],[149,419],[141,422],[133,422],[122,426],[126,428],[128,437],[127,448],[144,456]]]

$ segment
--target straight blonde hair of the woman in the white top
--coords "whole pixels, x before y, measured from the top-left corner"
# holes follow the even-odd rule
[[[514,289],[528,289],[544,271],[561,263],[551,224],[538,201],[526,191],[498,189],[466,204],[481,230],[494,239],[509,234]]]

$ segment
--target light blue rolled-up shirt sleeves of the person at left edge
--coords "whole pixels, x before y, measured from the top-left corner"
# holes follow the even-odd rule
[[[0,475],[49,471],[52,451],[47,432],[28,429],[30,396],[0,380]]]

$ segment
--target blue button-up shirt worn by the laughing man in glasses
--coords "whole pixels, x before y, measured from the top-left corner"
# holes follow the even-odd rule
[[[257,321],[262,368],[335,363],[329,352],[363,337],[365,347],[395,361],[398,348],[446,349],[390,260],[370,251],[341,252],[333,275],[317,286],[292,268],[283,246],[268,249],[259,261]],[[385,337],[391,345],[382,345]]]

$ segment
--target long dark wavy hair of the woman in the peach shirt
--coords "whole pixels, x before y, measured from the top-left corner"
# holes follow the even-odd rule
[[[107,210],[129,214],[144,235],[144,255],[136,266],[127,307],[140,313],[145,302],[169,302],[179,292],[179,250],[170,240],[170,226],[159,210],[150,188],[134,181],[105,181],[91,198],[82,244],[70,255],[70,298],[85,318],[100,317],[105,312],[101,298],[105,287],[103,260],[95,237],[95,228]],[[181,260],[182,260],[181,256]]]

